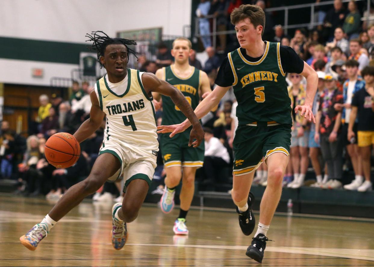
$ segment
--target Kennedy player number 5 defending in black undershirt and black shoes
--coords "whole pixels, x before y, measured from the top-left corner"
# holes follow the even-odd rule
[[[287,72],[294,72],[306,78],[305,104],[296,106],[295,112],[313,122],[312,104],[318,76],[292,48],[262,40],[265,13],[260,7],[241,5],[233,10],[230,19],[240,48],[228,54],[217,75],[215,83],[218,87],[196,107],[195,113],[198,118],[204,116],[233,86],[239,126],[233,142],[232,199],[239,213],[240,228],[246,235],[254,230],[253,199],[249,194],[254,171],[263,157],[268,167],[267,187],[260,204],[260,222],[246,252],[248,257],[261,263],[266,241],[269,240],[267,230],[281,197],[291,144],[291,102],[285,76]],[[184,121],[158,128],[160,133],[172,132],[172,137],[189,125],[188,121]]]

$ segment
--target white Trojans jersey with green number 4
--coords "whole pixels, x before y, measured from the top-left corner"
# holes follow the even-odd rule
[[[120,140],[146,150],[158,151],[153,97],[144,90],[139,70],[127,69],[122,81],[112,84],[104,75],[95,84],[100,108],[107,115],[104,143]]]

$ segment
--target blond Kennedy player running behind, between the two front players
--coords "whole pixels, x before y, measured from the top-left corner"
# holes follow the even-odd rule
[[[200,97],[206,97],[211,92],[211,87],[208,75],[188,63],[191,52],[190,40],[182,37],[175,39],[171,51],[174,64],[157,70],[156,76],[177,87],[186,97],[192,109],[195,109],[199,104]],[[160,100],[160,94],[154,93],[153,96],[156,100]],[[162,124],[178,124],[186,119],[186,116],[175,106],[170,97],[162,95],[162,107]],[[169,134],[162,134],[160,139],[166,171],[166,186],[160,200],[160,207],[165,213],[171,212],[174,207],[175,188],[182,179],[180,213],[173,227],[174,233],[180,235],[188,234],[185,222],[195,190],[195,173],[197,168],[203,166],[204,160],[204,143],[193,148],[188,146],[188,140],[187,131],[172,138],[169,138]]]

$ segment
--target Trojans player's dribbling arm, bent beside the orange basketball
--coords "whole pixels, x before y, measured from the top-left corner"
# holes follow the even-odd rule
[[[92,103],[90,117],[89,119],[86,119],[86,121],[83,122],[78,130],[73,134],[79,143],[95,133],[95,131],[100,127],[105,115],[105,113],[100,109],[99,100],[97,99],[95,90],[91,92],[90,98]]]

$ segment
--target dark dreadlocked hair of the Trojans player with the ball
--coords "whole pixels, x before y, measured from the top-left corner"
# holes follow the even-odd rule
[[[100,36],[98,33],[104,34],[104,36]],[[95,50],[97,52],[97,61],[100,63],[101,67],[102,64],[100,62],[100,57],[104,57],[105,48],[108,45],[124,45],[127,49],[127,62],[129,62],[129,53],[133,54],[136,58],[136,52],[128,47],[128,45],[137,45],[135,40],[128,40],[123,38],[110,38],[104,31],[92,31],[91,34],[87,33],[86,37],[89,39],[86,42],[92,41],[92,45],[88,45],[87,48],[91,50]]]

